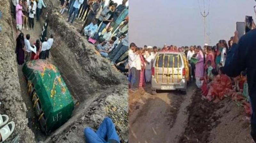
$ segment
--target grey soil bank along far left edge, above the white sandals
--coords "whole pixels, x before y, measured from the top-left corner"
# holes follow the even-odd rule
[[[3,14],[0,20],[3,29],[0,33],[0,114],[7,114],[9,122],[15,122],[14,132],[8,140],[19,135],[19,142],[33,143],[34,133],[28,128],[27,107],[20,94],[14,39],[16,33],[12,28],[10,8],[9,0],[0,1]]]

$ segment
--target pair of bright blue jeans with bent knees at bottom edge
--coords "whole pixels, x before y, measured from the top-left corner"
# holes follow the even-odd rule
[[[105,118],[96,132],[91,128],[84,129],[86,143],[109,143],[111,140],[120,143],[115,126],[110,118]]]

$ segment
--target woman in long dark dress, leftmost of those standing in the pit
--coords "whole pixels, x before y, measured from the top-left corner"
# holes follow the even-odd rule
[[[16,51],[17,61],[19,65],[24,63],[24,55],[25,55],[25,43],[24,43],[24,34],[20,33],[20,35],[16,39]]]

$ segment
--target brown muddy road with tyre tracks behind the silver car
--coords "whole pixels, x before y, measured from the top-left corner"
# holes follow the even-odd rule
[[[129,141],[178,142],[185,131],[186,111],[195,89],[195,84],[190,84],[187,95],[179,91],[161,91],[153,96],[150,85],[147,85],[145,92],[129,92]]]

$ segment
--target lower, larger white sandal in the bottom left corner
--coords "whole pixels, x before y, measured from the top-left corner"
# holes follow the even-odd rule
[[[15,124],[12,121],[0,129],[0,134],[2,136],[2,141],[0,143],[4,142],[12,134],[12,132],[14,131],[14,127]]]

